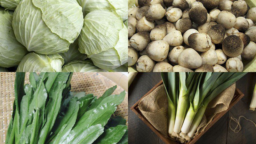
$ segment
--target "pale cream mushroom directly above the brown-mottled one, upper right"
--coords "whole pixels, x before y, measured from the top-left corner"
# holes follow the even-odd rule
[[[236,25],[236,17],[228,11],[221,11],[216,22],[223,25],[226,29],[233,28]]]

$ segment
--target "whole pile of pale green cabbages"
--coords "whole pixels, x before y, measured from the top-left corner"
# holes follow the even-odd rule
[[[127,71],[128,0],[0,5],[0,72]]]

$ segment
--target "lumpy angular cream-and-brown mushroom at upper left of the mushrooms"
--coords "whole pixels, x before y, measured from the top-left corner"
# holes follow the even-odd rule
[[[138,32],[142,31],[151,31],[155,27],[155,23],[153,21],[146,20],[146,17],[138,20],[136,29]]]

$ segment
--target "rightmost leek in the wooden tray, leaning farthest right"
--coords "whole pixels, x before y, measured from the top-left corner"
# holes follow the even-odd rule
[[[192,138],[196,132],[196,129],[198,128],[198,125],[200,124],[204,112],[207,108],[207,105],[209,104],[210,101],[212,101],[217,95],[219,95],[222,91],[224,91],[226,88],[228,88],[230,85],[234,84],[238,79],[240,79],[241,77],[243,77],[246,73],[243,72],[236,72],[236,73],[231,73],[232,75],[230,76],[230,74],[228,73],[223,73],[220,77],[225,77],[225,76],[229,76],[226,80],[221,80],[220,77],[217,79],[217,81],[222,84],[216,86],[216,88],[211,89],[211,91],[207,94],[206,98],[203,101],[202,106],[198,109],[193,122],[189,128],[189,131],[187,133],[187,136],[189,138]],[[221,82],[222,81],[222,82]]]

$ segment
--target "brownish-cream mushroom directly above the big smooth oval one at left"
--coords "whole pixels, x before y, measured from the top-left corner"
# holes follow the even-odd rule
[[[166,36],[166,26],[164,24],[157,25],[150,32],[151,41],[162,40]]]

